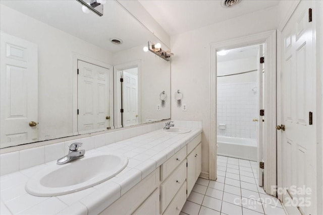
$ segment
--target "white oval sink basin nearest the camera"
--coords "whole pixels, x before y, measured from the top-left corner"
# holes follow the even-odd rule
[[[64,165],[52,164],[29,179],[26,191],[36,196],[76,192],[114,177],[127,164],[128,158],[116,155],[90,155]]]

